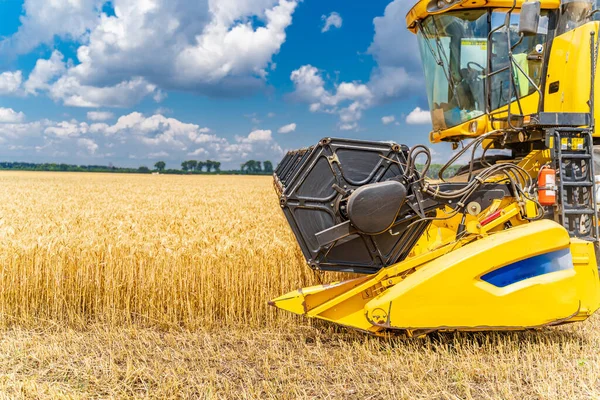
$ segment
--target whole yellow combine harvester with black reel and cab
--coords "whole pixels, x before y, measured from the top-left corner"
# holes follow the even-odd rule
[[[425,146],[326,138],[289,152],[275,186],[308,265],[365,275],[271,304],[377,335],[594,313],[597,20],[591,0],[419,1],[406,22],[430,140],[467,165],[429,180]]]

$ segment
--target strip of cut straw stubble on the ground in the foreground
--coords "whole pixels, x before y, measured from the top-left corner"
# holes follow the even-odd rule
[[[597,399],[597,321],[418,340],[323,327],[11,329],[0,399]]]

